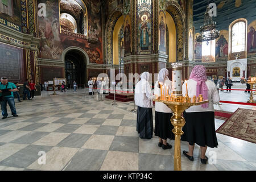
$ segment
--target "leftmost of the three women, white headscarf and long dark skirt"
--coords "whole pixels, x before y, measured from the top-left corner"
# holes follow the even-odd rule
[[[137,131],[140,138],[151,139],[153,137],[152,107],[155,96],[151,92],[148,82],[150,73],[143,72],[141,80],[135,86],[134,99],[137,109]]]

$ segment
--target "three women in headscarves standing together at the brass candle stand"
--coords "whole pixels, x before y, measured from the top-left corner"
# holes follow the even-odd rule
[[[168,86],[169,95],[172,93],[172,81],[168,78],[169,72],[166,68],[159,71],[158,81],[155,82],[154,94],[160,96],[160,84],[162,82]],[[174,139],[170,119],[173,111],[162,102],[155,102],[155,129],[153,129],[152,108],[154,107],[152,100],[155,98],[151,92],[151,85],[148,82],[149,73],[143,72],[141,80],[135,85],[135,104],[137,109],[137,131],[139,137],[143,139],[151,139],[153,132],[159,137],[158,146],[163,150],[172,148],[167,143],[167,139]],[[208,99],[207,104],[192,106],[185,110],[183,115],[185,125],[183,127],[184,134],[181,140],[188,142],[188,151],[183,151],[184,156],[193,161],[193,150],[195,143],[200,146],[201,163],[207,164],[207,156],[205,155],[207,147],[217,147],[217,137],[214,126],[214,107],[220,101],[220,96],[216,85],[208,80],[206,69],[203,65],[196,65],[187,81],[188,96],[203,95]],[[183,84],[183,96],[186,93],[186,86]],[[164,93],[164,96],[166,93]]]

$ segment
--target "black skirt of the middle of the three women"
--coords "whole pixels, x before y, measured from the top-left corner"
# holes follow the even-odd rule
[[[172,123],[170,121],[172,113],[162,113],[155,111],[155,136],[158,136],[164,140],[167,138],[175,139],[174,133],[172,133]]]

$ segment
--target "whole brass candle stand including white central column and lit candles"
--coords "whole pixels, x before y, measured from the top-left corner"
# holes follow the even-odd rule
[[[185,125],[185,119],[181,116],[185,109],[191,106],[201,105],[209,102],[209,100],[203,100],[203,96],[200,95],[196,100],[196,96],[193,96],[193,102],[188,97],[188,91],[186,96],[182,96],[182,83],[181,81],[181,63],[172,64],[172,93],[171,96],[166,96],[168,99],[162,97],[156,97],[155,102],[162,102],[166,104],[173,112],[171,117],[171,123],[174,126],[172,132],[175,134],[175,146],[174,146],[174,170],[181,171],[181,149],[180,149],[180,136],[183,135],[182,127]],[[179,80],[178,80],[179,79]],[[187,82],[186,82],[187,88]],[[167,89],[166,89],[167,90]],[[162,93],[162,87],[161,87]]]

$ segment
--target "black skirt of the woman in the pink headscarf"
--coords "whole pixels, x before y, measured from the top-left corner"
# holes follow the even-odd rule
[[[217,148],[214,112],[186,113],[184,111],[183,114],[186,123],[183,127],[184,134],[181,135],[181,140],[189,142],[191,146],[196,143],[201,147]]]

